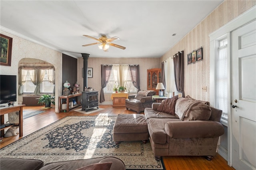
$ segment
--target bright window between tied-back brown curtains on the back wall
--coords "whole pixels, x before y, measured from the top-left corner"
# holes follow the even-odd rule
[[[112,66],[110,79],[107,86],[104,88],[104,93],[113,93],[114,85],[126,87],[128,93],[137,93],[137,88],[132,84],[128,65]]]

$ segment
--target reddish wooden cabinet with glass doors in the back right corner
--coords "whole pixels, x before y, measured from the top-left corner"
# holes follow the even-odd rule
[[[156,90],[156,85],[161,81],[162,78],[162,73],[161,69],[154,68],[154,69],[148,69],[148,84],[147,84],[147,89],[148,90],[154,90],[156,91],[156,94],[158,94],[159,90]]]

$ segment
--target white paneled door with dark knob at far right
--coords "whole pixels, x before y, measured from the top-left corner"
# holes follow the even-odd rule
[[[256,169],[256,21],[232,32],[232,166]]]

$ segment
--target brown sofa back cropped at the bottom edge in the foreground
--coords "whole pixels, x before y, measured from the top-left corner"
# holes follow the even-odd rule
[[[42,160],[1,158],[0,167],[1,170],[125,170],[124,162],[114,156],[52,162],[46,165]]]

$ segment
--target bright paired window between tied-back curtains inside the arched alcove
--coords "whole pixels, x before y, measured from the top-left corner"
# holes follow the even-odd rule
[[[30,79],[29,71],[26,71],[26,82],[23,85],[23,93],[34,93],[36,85],[34,85]],[[40,93],[52,93],[54,85],[50,83],[47,71],[44,70],[44,78],[40,84]]]

